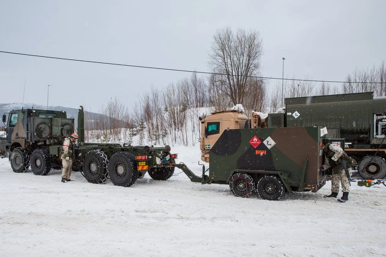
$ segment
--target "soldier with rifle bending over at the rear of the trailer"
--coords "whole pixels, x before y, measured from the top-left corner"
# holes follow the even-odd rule
[[[326,162],[322,166],[323,170],[332,168],[332,180],[331,180],[331,195],[325,195],[324,197],[337,197],[339,193],[339,182],[342,184],[343,196],[338,199],[340,202],[346,202],[349,200],[350,183],[347,178],[344,168],[342,168],[342,160],[345,160],[350,167],[348,168],[351,175],[352,168],[356,165],[356,161],[353,158],[347,156],[343,149],[337,144],[326,144],[323,147],[323,153],[326,157]]]

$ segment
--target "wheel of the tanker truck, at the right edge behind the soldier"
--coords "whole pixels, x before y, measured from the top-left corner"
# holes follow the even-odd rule
[[[366,156],[359,161],[359,175],[366,180],[383,179],[386,176],[386,162],[378,156],[375,156],[371,161],[372,157]]]

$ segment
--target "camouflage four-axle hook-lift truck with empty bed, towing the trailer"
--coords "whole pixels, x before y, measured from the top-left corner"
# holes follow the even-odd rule
[[[74,147],[73,168],[80,170],[90,183],[131,186],[149,173],[155,180],[167,180],[174,173],[177,155],[170,146],[131,146],[129,144],[85,143],[84,112],[78,113],[79,144]],[[7,121],[8,120],[8,121]],[[0,141],[0,155],[8,157],[12,170],[47,175],[51,168],[61,168],[64,138],[74,133],[74,119],[64,111],[21,109],[3,115],[7,139]]]

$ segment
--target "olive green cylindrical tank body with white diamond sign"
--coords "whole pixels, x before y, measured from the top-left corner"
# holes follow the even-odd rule
[[[355,96],[351,98],[348,96]],[[346,97],[345,97],[346,96]],[[372,93],[287,98],[286,126],[325,126],[330,138],[345,138],[346,142],[371,144],[376,148],[383,138],[374,138],[374,113],[386,111],[386,97]],[[298,112],[295,118],[292,114]]]

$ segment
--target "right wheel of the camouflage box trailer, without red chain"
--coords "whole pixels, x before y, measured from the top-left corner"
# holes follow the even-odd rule
[[[284,194],[283,182],[277,176],[264,176],[257,182],[257,193],[264,200],[279,200]]]

